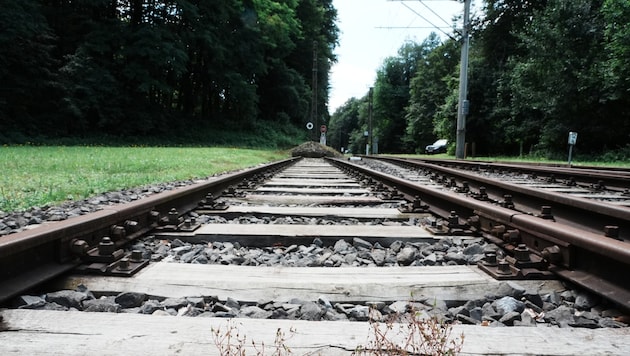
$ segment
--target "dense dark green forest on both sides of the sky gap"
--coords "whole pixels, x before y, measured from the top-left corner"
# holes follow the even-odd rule
[[[481,0],[480,0],[481,1]],[[630,157],[630,2],[483,0],[469,28],[468,155]],[[328,114],[332,0],[0,0],[0,143],[251,133],[327,123],[362,152],[453,152],[461,19],[401,43],[369,95]],[[463,6],[462,6],[463,8]],[[299,128],[299,130],[298,130]],[[317,128],[317,125],[316,125]],[[209,130],[209,131],[208,131]],[[218,131],[217,131],[218,132]],[[225,132],[225,131],[221,131]]]

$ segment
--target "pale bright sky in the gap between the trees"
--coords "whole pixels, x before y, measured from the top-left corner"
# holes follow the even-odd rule
[[[366,95],[385,58],[397,56],[405,41],[422,43],[431,32],[446,38],[434,26],[450,34],[452,18],[464,11],[463,3],[454,0],[333,0],[333,5],[340,33],[330,76],[330,114],[348,99]]]

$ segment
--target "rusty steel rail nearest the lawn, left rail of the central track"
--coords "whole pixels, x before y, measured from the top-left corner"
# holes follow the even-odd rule
[[[291,158],[209,178],[205,182],[156,194],[127,204],[0,237],[0,303],[50,280],[82,263],[81,257],[104,237],[114,249],[142,236],[169,214],[176,217],[196,208],[199,201],[245,179],[276,171]]]

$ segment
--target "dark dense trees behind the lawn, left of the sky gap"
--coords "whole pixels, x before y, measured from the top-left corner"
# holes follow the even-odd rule
[[[0,0],[0,139],[300,126],[332,0]]]

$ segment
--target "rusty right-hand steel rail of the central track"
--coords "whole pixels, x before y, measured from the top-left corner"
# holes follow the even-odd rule
[[[429,205],[429,211],[445,218],[454,211],[462,222],[481,221],[480,232],[497,236],[494,241],[504,243],[508,250],[515,249],[509,240],[510,231],[517,232],[516,243],[524,243],[533,253],[544,257],[551,271],[630,309],[630,277],[625,274],[630,268],[630,244],[626,242],[452,191],[430,188],[344,160],[330,160],[345,170],[375,177],[402,192],[407,199],[419,196]]]

